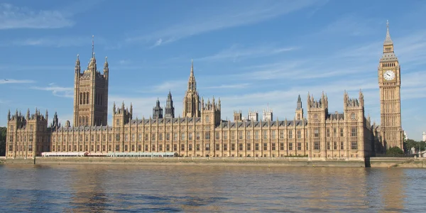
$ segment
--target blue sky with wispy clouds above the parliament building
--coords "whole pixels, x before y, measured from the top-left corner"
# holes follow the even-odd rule
[[[425,1],[4,1],[0,126],[8,109],[28,107],[71,121],[75,59],[87,67],[92,35],[99,70],[108,56],[109,111],[114,101],[132,102],[136,116],[148,117],[170,89],[182,114],[193,58],[197,89],[221,98],[222,119],[267,106],[274,119],[293,119],[297,95],[305,107],[307,92],[326,92],[329,111],[342,111],[344,89],[350,97],[362,89],[366,114],[380,123],[377,66],[389,20],[403,129],[420,140],[424,11]]]

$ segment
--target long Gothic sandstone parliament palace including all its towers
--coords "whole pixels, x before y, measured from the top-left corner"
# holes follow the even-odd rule
[[[89,65],[80,70],[77,55],[74,79],[72,124],[48,124],[48,111],[39,109],[7,115],[6,158],[33,158],[45,152],[161,153],[184,157],[288,157],[310,160],[364,160],[398,146],[403,148],[400,109],[400,64],[393,50],[387,25],[383,55],[378,62],[381,124],[372,124],[364,113],[364,95],[343,93],[343,111],[331,112],[327,94],[308,92],[305,106],[295,97],[293,119],[274,120],[272,111],[249,111],[243,118],[234,111],[234,121],[222,119],[220,99],[200,98],[193,62],[183,98],[182,117],[175,116],[173,97],[168,93],[164,110],[157,100],[149,119],[137,119],[133,106],[112,107],[108,119],[109,64],[103,72],[93,51]],[[343,91],[342,91],[343,92]],[[297,99],[296,99],[297,98]]]

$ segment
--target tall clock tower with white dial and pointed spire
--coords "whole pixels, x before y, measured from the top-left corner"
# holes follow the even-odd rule
[[[386,38],[383,55],[378,65],[378,87],[380,91],[381,143],[383,148],[398,146],[403,149],[401,127],[400,64],[393,52],[393,41],[386,23]]]

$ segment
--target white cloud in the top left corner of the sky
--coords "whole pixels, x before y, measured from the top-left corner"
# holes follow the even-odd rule
[[[13,28],[63,28],[74,21],[60,11],[31,11],[11,4],[0,4],[0,29]]]

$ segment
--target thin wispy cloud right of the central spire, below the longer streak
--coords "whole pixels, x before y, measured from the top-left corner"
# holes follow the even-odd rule
[[[218,61],[218,60],[244,60],[246,58],[260,58],[268,55],[277,55],[280,53],[297,50],[295,47],[290,48],[275,48],[271,45],[259,45],[251,48],[241,48],[241,45],[232,45],[231,48],[222,50],[221,52],[209,55],[203,58],[198,58],[200,61]]]

